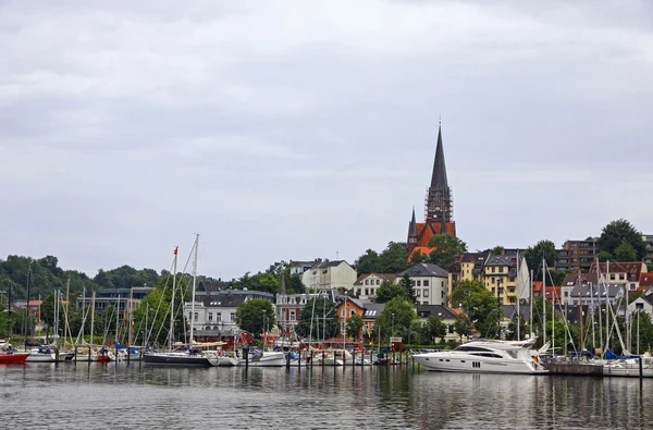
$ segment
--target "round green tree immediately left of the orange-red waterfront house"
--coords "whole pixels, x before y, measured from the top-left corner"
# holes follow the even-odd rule
[[[340,332],[340,321],[333,302],[315,297],[306,302],[295,332],[303,337],[329,339]]]

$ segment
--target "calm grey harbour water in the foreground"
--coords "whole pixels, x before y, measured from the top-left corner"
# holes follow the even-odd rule
[[[403,367],[0,366],[3,428],[653,428],[653,380]]]

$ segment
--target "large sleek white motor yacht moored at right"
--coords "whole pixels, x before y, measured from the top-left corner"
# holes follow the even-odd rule
[[[412,357],[428,370],[473,373],[546,373],[534,340],[521,342],[471,341],[452,351],[416,354]]]

